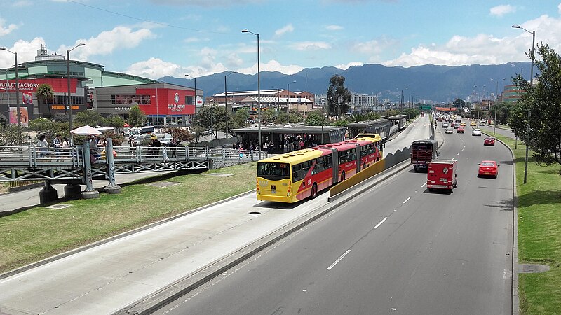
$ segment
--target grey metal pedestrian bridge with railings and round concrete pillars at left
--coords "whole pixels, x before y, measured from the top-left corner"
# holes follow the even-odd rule
[[[128,147],[112,146],[108,142],[106,147],[94,150],[90,150],[88,144],[72,148],[0,146],[0,182],[45,181],[45,187],[39,193],[43,203],[57,199],[56,190],[51,186],[53,183],[66,183],[65,196],[68,197],[81,193],[80,185],[86,185],[84,193],[96,197],[93,179],[108,180],[106,192],[120,193],[115,174],[212,169],[259,158],[258,151],[188,146]],[[266,156],[261,153],[261,158]]]

